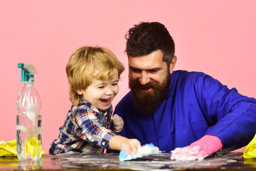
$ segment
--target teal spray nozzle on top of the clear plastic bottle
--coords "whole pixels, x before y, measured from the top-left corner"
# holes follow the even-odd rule
[[[21,68],[21,82],[34,82],[34,74],[37,74],[35,66],[28,63],[18,63],[18,68]]]

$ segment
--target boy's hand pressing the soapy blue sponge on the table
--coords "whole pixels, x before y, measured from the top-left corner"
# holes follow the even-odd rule
[[[141,143],[137,139],[128,139],[121,145],[121,150],[127,155],[134,155],[139,148],[142,147]]]

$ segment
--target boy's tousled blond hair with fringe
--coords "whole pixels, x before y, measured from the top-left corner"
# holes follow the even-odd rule
[[[71,56],[66,66],[70,85],[70,101],[78,105],[80,96],[77,90],[86,90],[92,79],[107,81],[124,71],[124,66],[108,48],[82,46]]]

